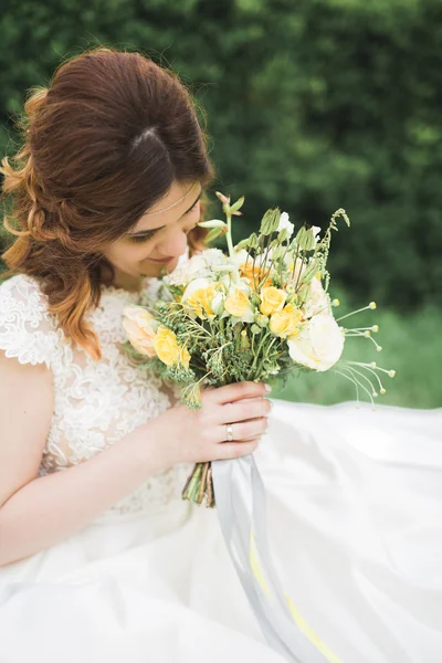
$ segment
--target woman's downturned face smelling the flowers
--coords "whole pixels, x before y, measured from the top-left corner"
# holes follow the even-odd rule
[[[103,254],[115,269],[114,285],[137,290],[143,276],[172,272],[186,252],[187,234],[200,220],[200,182],[175,181],[169,193]],[[183,198],[182,198],[183,197]],[[169,210],[152,214],[180,202]],[[161,272],[162,270],[162,272]]]

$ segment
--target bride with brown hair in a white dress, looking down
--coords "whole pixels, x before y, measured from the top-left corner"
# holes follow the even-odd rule
[[[253,382],[187,410],[120,346],[123,309],[202,248],[214,173],[190,94],[99,48],[24,109],[1,169],[15,235],[0,286],[1,663],[285,661],[217,512],[180,497],[196,461],[252,452],[278,573],[324,661],[439,663],[442,411],[271,402]]]

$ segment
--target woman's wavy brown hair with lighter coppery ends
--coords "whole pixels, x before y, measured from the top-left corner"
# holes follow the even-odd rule
[[[17,235],[3,254],[7,275],[35,277],[66,336],[94,359],[101,347],[84,315],[99,303],[104,269],[114,278],[101,249],[134,228],[175,180],[213,180],[196,108],[175,73],[103,46],[62,63],[50,87],[33,88],[24,104],[17,167],[4,157],[0,168],[18,227],[4,217]],[[201,228],[189,233],[191,252],[203,236]]]

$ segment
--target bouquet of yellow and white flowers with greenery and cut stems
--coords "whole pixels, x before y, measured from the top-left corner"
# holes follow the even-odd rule
[[[225,221],[199,223],[209,229],[207,242],[225,235],[228,255],[207,249],[164,276],[161,299],[152,306],[129,306],[124,327],[125,349],[147,359],[160,378],[180,387],[181,400],[201,407],[200,389],[243,380],[274,381],[293,371],[336,370],[373,402],[386,390],[380,373],[394,376],[375,361],[344,361],[346,336],[372,340],[371,327],[346,328],[336,318],[338,299],[328,294],[327,259],[332,233],[344,209],[337,210],[320,236],[320,229],[294,224],[286,212],[270,209],[259,232],[233,245],[232,218],[241,215],[244,197],[231,204],[217,192]],[[358,309],[376,308],[371,302]],[[214,506],[211,463],[197,463],[182,492],[197,504]]]

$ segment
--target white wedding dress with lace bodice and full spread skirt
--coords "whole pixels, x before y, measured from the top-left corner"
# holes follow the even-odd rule
[[[53,372],[41,475],[170,406],[118,347],[124,306],[156,283],[103,286],[90,314],[98,362],[65,339],[33,278],[0,286],[0,348]],[[440,663],[442,410],[275,401],[255,459],[281,581],[329,660]],[[285,661],[261,634],[217,512],[180,497],[191,469],[147,478],[81,532],[0,567],[0,663]]]

